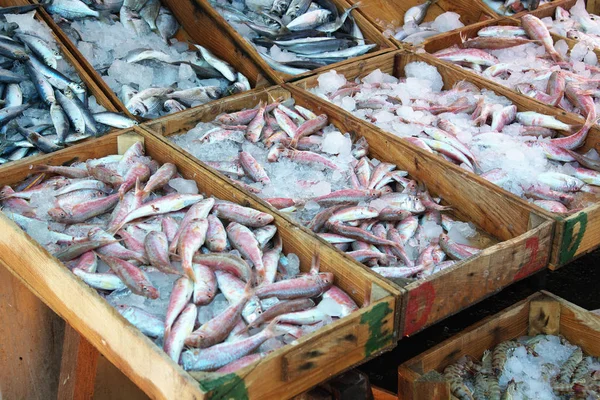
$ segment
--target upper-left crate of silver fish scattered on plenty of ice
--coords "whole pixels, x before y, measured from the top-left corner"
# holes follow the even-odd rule
[[[264,84],[244,52],[210,38],[215,23],[193,2],[130,0],[44,7],[50,26],[106,95],[138,120]],[[212,29],[212,30],[211,30]],[[210,33],[209,33],[209,30]]]

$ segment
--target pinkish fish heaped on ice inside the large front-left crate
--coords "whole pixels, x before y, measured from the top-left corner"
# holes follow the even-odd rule
[[[152,164],[155,165],[149,167]],[[154,171],[145,185],[145,190],[150,192],[152,197],[147,198],[140,194],[140,180],[136,179],[135,192],[128,191],[123,199],[120,199],[118,190],[128,180],[124,177],[131,175],[140,165]],[[267,327],[256,337],[244,332],[244,321],[252,322],[263,308],[267,309],[273,299],[266,297],[272,297],[273,293],[291,301],[301,296],[303,300],[299,302],[305,303],[305,308],[312,308],[320,301],[320,294],[331,290],[331,298],[340,301],[348,313],[358,310],[356,304],[353,306],[350,296],[333,286],[335,277],[331,272],[319,272],[317,261],[312,263],[310,270],[309,266],[306,266],[309,275],[305,278],[300,275],[300,281],[298,278],[289,279],[296,276],[291,269],[292,263],[288,264],[288,267],[289,273],[293,275],[281,275],[275,281],[279,259],[284,254],[282,238],[277,227],[271,224],[274,222],[273,217],[250,207],[236,205],[238,208],[234,208],[231,207],[234,203],[214,198],[205,199],[202,195],[173,193],[169,182],[180,176],[176,166],[170,163],[156,163],[145,154],[145,149],[139,142],[130,146],[123,155],[74,160],[61,166],[44,166],[39,170],[43,170],[44,173],[35,179],[28,179],[14,188],[2,188],[0,202],[3,212],[30,232],[32,238],[40,237],[34,230],[39,229],[40,223],[45,223],[48,234],[41,237],[41,244],[48,249],[58,249],[52,253],[64,260],[76,279],[80,279],[100,294],[107,295],[107,292],[118,291],[118,294],[113,296],[116,301],[111,301],[111,305],[143,334],[160,339],[163,350],[177,363],[184,362],[187,356],[180,358],[180,354],[188,354],[190,351],[187,350],[187,346],[191,344],[204,348],[200,359],[217,358],[216,363],[219,364],[218,368],[221,368],[238,358],[254,355],[260,344],[271,337],[278,337],[289,331],[293,332],[296,338],[300,338],[315,328],[287,327],[287,331],[282,329],[280,332],[279,329],[275,329],[277,322],[271,322],[271,327]],[[98,177],[110,183],[97,180]],[[103,203],[70,204],[69,207],[72,208],[69,211],[76,211],[74,214],[78,217],[77,221],[69,219],[70,226],[60,227],[58,229],[61,232],[55,232],[53,229],[57,229],[58,225],[52,221],[59,217],[59,211],[51,209],[46,216],[38,211],[39,207],[35,202],[36,196],[44,192],[55,197],[56,204],[65,208],[68,208],[69,199],[85,197],[89,192],[96,192],[100,199],[94,201]],[[60,195],[56,195],[57,193]],[[32,199],[33,202],[29,204]],[[120,208],[125,211],[117,209],[111,215],[111,207],[115,207],[116,203],[122,205]],[[81,210],[77,208],[80,206],[83,206]],[[223,206],[222,210],[219,209],[220,206]],[[147,209],[144,209],[145,207]],[[214,207],[217,207],[218,213],[214,212]],[[102,213],[99,213],[98,208],[102,209]],[[17,211],[33,211],[33,216],[17,215]],[[220,217],[221,212],[227,217]],[[132,213],[133,215],[130,215]],[[114,224],[116,228],[108,229],[116,229],[113,236],[105,229],[107,225],[113,225],[112,220],[117,214],[124,215],[124,218]],[[184,224],[188,214],[190,218]],[[87,219],[84,219],[84,216]],[[201,232],[201,235],[190,238],[187,232],[192,231],[195,225],[203,225],[202,222],[197,224],[201,219],[205,221],[206,234]],[[243,226],[240,221],[244,219],[250,221],[251,225],[260,226],[252,226],[253,229]],[[123,223],[124,220],[128,222]],[[65,219],[59,221],[67,222]],[[224,228],[225,221],[228,223],[227,230]],[[210,225],[213,225],[213,228],[210,228]],[[178,232],[180,234],[176,240]],[[227,236],[223,236],[228,233],[229,241]],[[214,251],[208,249],[208,243],[203,243],[205,240],[199,238],[211,236],[210,239],[213,239],[212,235],[218,239],[214,241]],[[48,240],[50,242],[46,243]],[[179,254],[169,252],[173,242],[179,245],[175,246]],[[189,251],[188,246],[193,251]],[[198,248],[200,251],[196,251]],[[190,253],[195,282],[181,272],[185,272],[185,265],[182,268],[179,266],[180,262],[190,258]],[[263,256],[267,255],[274,260],[270,261],[269,265],[270,278],[258,281],[255,278],[255,269],[260,269],[259,263],[263,262]],[[292,260],[292,255],[288,255]],[[267,259],[268,257],[265,258]],[[106,266],[110,269],[109,272],[104,272]],[[287,284],[284,284],[286,282]],[[261,286],[254,287],[256,283],[260,283]],[[260,295],[255,293],[257,290],[260,290]],[[130,303],[132,295],[148,299],[143,309]],[[207,309],[204,307],[213,302],[223,301],[223,297],[227,299],[229,307],[206,318]],[[157,300],[164,302],[166,299],[169,300],[165,315],[164,311],[155,307]],[[310,316],[301,318],[290,315],[292,310],[300,311],[300,308],[283,308],[281,313],[287,316],[283,317],[280,313],[277,313],[277,316],[295,323],[311,322]],[[331,322],[329,317],[325,318],[322,312],[319,313],[318,319],[322,323]],[[269,318],[266,322],[270,321]],[[198,329],[194,331],[197,323]],[[246,339],[251,340],[243,342]],[[264,349],[258,350],[257,353],[260,357],[262,350]],[[230,358],[232,353],[235,354],[236,360]],[[204,363],[199,359],[196,361]]]

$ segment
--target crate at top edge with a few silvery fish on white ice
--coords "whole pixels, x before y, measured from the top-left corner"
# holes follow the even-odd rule
[[[469,0],[366,0],[360,1],[358,12],[400,47],[418,45],[441,33],[496,18],[481,1]]]

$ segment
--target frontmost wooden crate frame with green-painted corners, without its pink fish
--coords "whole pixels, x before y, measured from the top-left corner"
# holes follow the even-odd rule
[[[97,139],[94,146],[79,145],[58,151],[37,159],[35,164],[61,165],[73,159],[86,160],[116,154],[119,144],[126,148],[123,144],[127,141],[131,144],[131,140],[143,140],[146,154],[156,161],[177,165],[181,175],[194,179],[200,191],[207,196],[271,212],[255,199],[137,127]],[[15,163],[5,170],[0,183],[20,182],[29,174],[30,164]],[[298,255],[303,271],[308,270],[313,254],[318,253],[321,269],[334,274],[336,285],[357,304],[364,305],[369,300],[370,304],[299,339],[295,345],[269,354],[255,365],[226,375],[184,372],[150,339],[126,322],[95,290],[73,276],[60,261],[4,215],[0,215],[0,229],[3,232],[0,236],[0,259],[4,268],[73,327],[73,331],[65,335],[63,348],[70,346],[78,349],[76,355],[67,353],[72,360],[77,360],[77,366],[63,363],[66,373],[62,375],[76,375],[80,384],[75,386],[75,392],[79,387],[83,393],[93,390],[89,388],[93,388],[95,375],[80,374],[81,366],[89,365],[85,357],[90,352],[90,346],[86,345],[86,341],[89,341],[93,348],[152,398],[204,399],[221,398],[226,394],[235,398],[288,398],[393,348],[398,297],[394,295],[396,290],[392,286],[367,268],[346,262],[336,251],[322,246],[321,242],[281,216],[274,214],[274,217],[284,242],[284,251]],[[22,335],[16,328],[12,334]],[[50,326],[40,323],[36,329],[50,329]],[[82,342],[75,332],[86,341]],[[93,352],[88,359],[92,357]]]

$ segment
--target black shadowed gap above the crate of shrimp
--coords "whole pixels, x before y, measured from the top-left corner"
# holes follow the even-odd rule
[[[405,338],[391,352],[359,367],[371,384],[397,393],[397,367],[469,325],[495,314],[538,290],[547,290],[588,310],[600,308],[600,250],[581,257],[558,271],[542,271],[456,314],[415,336]]]

